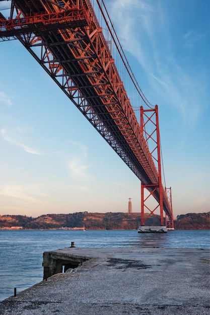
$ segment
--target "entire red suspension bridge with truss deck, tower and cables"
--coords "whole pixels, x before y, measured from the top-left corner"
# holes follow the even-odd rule
[[[173,228],[158,106],[139,88],[104,1],[3,1],[11,6],[9,18],[0,12],[0,40],[18,39],[141,180],[141,224],[160,213]]]

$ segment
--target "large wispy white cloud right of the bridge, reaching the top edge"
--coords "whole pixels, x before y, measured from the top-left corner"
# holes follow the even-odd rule
[[[154,100],[146,95],[149,101],[161,105],[159,102],[164,100],[177,109],[183,121],[194,125],[206,108],[200,106],[198,99],[205,89],[203,72],[183,62],[183,47],[177,50],[172,40],[173,21],[167,8],[161,2],[114,0],[111,15],[123,49],[136,58],[145,71],[150,90],[154,91],[151,93]],[[183,35],[179,35],[181,41]],[[192,47],[203,36],[189,31],[184,35],[185,45]],[[141,88],[144,92],[144,86]]]

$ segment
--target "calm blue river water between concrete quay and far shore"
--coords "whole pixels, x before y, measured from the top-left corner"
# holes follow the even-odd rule
[[[42,281],[44,251],[70,247],[209,248],[209,230],[0,230],[0,301]]]

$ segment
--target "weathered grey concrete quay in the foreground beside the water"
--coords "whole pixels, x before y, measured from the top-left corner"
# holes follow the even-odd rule
[[[55,274],[4,300],[0,314],[210,313],[208,249],[65,248],[45,252],[43,266]]]

